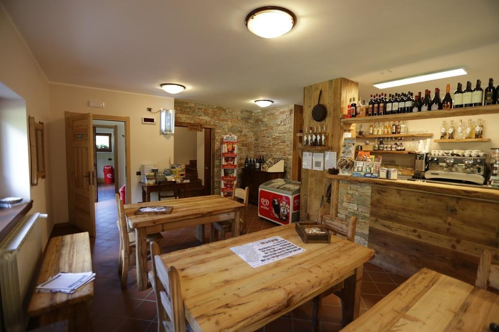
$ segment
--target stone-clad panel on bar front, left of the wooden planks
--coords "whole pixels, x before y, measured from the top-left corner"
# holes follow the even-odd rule
[[[371,210],[371,185],[340,181],[338,189],[338,217],[357,216],[355,242],[367,246],[369,213]]]

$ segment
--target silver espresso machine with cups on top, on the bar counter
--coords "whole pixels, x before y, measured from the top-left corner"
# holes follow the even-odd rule
[[[487,181],[488,157],[427,156],[425,179],[483,185]]]

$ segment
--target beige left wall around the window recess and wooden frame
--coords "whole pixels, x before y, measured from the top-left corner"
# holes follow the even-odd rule
[[[0,82],[24,99],[27,116],[33,116],[36,121],[44,122],[45,129],[49,131],[47,80],[1,3],[0,48]],[[49,133],[46,132],[45,138],[47,139],[48,136]],[[45,148],[47,146],[45,144]],[[49,155],[46,156],[46,164],[48,164],[48,159]],[[54,220],[53,213],[50,211],[49,183],[50,172],[47,178],[39,180],[37,186],[30,187],[30,198],[34,201],[32,212],[43,212],[49,215],[41,234],[42,244],[47,241]]]

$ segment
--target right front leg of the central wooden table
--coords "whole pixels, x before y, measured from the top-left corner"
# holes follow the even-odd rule
[[[358,266],[353,275],[345,280],[341,295],[341,325],[345,327],[359,317],[360,288],[362,286],[363,265]]]

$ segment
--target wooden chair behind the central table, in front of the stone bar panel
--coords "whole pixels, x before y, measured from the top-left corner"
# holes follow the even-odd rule
[[[326,228],[329,232],[332,232],[336,235],[341,235],[346,237],[348,241],[355,242],[355,229],[357,228],[357,217],[351,216],[350,220],[343,220],[338,217],[334,217],[332,215],[325,214],[325,207],[322,205],[319,210],[319,217],[317,222],[321,224],[324,228]],[[341,290],[344,287],[344,283],[341,282],[339,284],[334,285],[324,293],[316,296],[313,299],[313,313],[312,313],[312,322],[314,325],[314,331],[318,331],[319,328],[319,309],[322,303],[322,299],[325,297],[336,294],[341,298]]]

